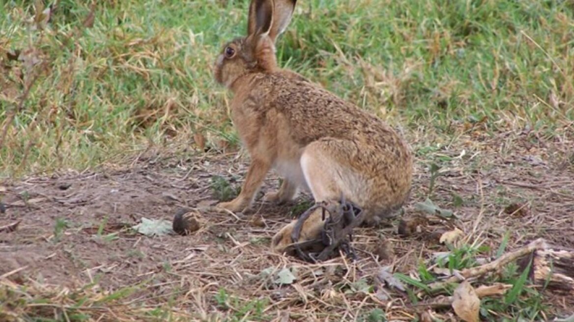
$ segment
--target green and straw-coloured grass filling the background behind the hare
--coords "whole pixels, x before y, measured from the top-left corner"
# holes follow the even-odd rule
[[[211,65],[246,29],[247,1],[97,3],[91,28],[90,5],[63,0],[44,30],[26,22],[32,2],[0,7],[0,176],[114,162],[196,131],[237,143]],[[448,135],[486,117],[491,131],[552,136],[574,119],[573,22],[569,1],[310,0],[277,53],[391,123]],[[28,48],[47,69],[10,60]],[[21,76],[38,72],[15,110]]]

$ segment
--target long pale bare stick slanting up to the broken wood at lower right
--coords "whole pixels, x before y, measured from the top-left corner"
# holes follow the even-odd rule
[[[460,282],[471,277],[482,276],[488,272],[491,272],[492,270],[497,270],[502,266],[505,266],[510,262],[525,256],[526,254],[532,253],[535,250],[545,249],[547,247],[548,246],[546,245],[546,241],[542,238],[538,238],[535,241],[530,242],[530,244],[522,246],[521,248],[514,250],[514,252],[506,253],[499,257],[497,260],[494,260],[490,263],[480,265],[478,267],[464,269],[459,274],[457,274],[457,276],[451,276],[444,281],[430,284],[428,285],[430,292],[435,292],[436,290],[443,289],[450,283]]]

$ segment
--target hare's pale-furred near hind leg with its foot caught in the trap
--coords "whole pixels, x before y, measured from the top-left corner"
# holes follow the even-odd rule
[[[301,155],[301,168],[315,202],[338,202],[343,197],[369,212],[371,183],[356,168],[348,166],[358,156],[354,142],[325,138],[309,144]],[[346,162],[345,162],[346,161]],[[367,213],[366,213],[367,214]],[[302,225],[298,242],[319,238],[324,220],[321,209],[316,209]],[[368,217],[368,215],[367,215]],[[275,252],[284,252],[292,244],[291,233],[296,220],[283,227],[272,240]]]

